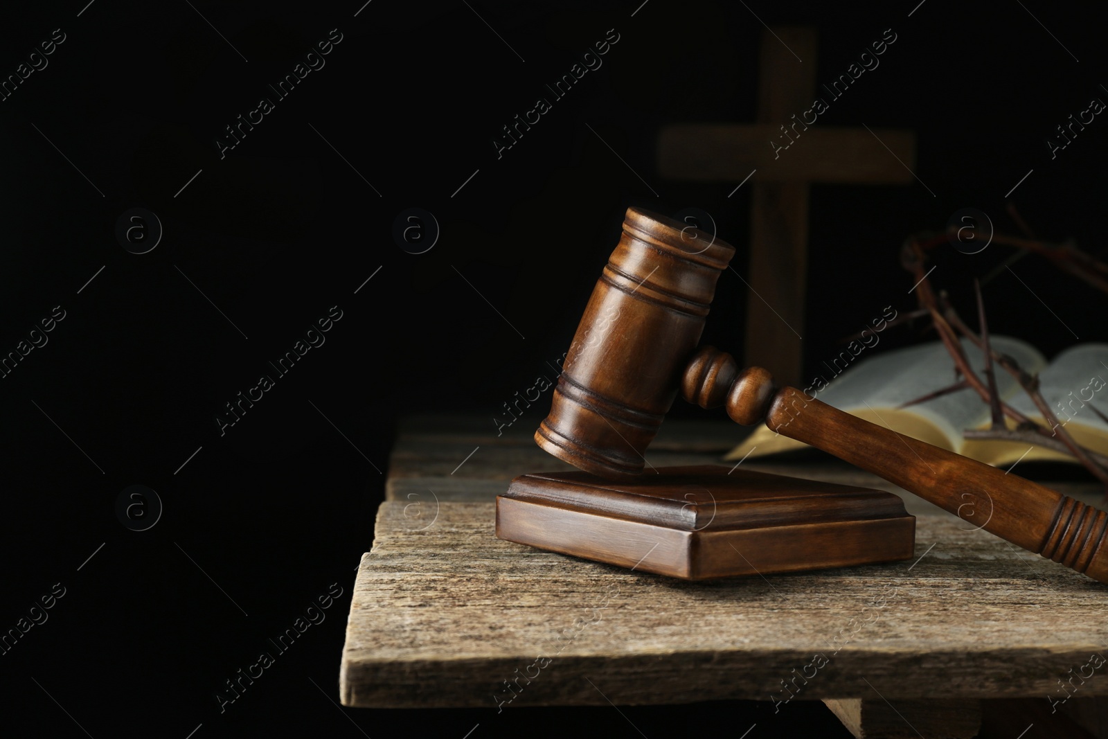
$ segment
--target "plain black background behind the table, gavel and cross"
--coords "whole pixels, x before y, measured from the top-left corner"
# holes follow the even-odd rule
[[[749,185],[728,197],[738,181],[665,181],[655,146],[665,123],[753,120],[759,18],[818,27],[819,58],[803,63],[819,81],[893,29],[880,66],[817,125],[915,130],[926,183],[813,186],[809,371],[884,306],[914,307],[899,247],[960,208],[1015,234],[1010,201],[1040,237],[1104,254],[1108,123],[1098,116],[1053,161],[1045,143],[1091,97],[1108,100],[1095,3],[360,4],[78,0],[20,11],[0,30],[2,75],[53,29],[65,33],[0,102],[0,353],[65,310],[49,343],[0,380],[0,628],[54,583],[66,588],[0,657],[11,736],[184,738],[201,723],[197,739],[462,737],[476,723],[474,738],[637,736],[611,707],[330,704],[398,417],[472,411],[492,428],[501,403],[568,347],[630,205],[708,212],[745,274]],[[326,65],[220,160],[224,126],[274,99],[266,85],[335,28],[342,41]],[[609,29],[619,40],[603,66],[497,158],[501,126],[548,97],[544,85]],[[115,239],[131,207],[161,218],[148,254]],[[424,254],[392,237],[409,207],[441,228]],[[932,278],[970,316],[973,276],[1009,255],[942,247]],[[1048,356],[1106,338],[1105,296],[1037,257],[1013,270],[1026,286],[1007,273],[985,286],[994,331]],[[747,288],[725,273],[717,296],[706,340],[739,350]],[[331,306],[342,319],[326,343],[220,437],[224,403]],[[910,329],[884,338],[920,340]],[[131,484],[164,503],[148,531],[116,519]],[[343,595],[327,620],[220,715],[223,680],[332,583]],[[624,711],[650,737],[755,721],[751,737],[842,735],[818,705]]]

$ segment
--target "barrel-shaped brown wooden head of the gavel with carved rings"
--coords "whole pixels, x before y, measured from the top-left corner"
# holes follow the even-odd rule
[[[538,445],[605,478],[640,473],[732,256],[711,234],[628,208],[535,432]]]

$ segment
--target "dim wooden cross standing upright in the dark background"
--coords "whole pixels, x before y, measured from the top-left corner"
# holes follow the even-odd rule
[[[810,183],[907,184],[915,166],[911,131],[834,127],[818,119],[804,125],[801,119],[815,99],[828,107],[837,100],[830,90],[815,90],[815,39],[812,28],[762,33],[755,124],[670,125],[658,136],[658,170],[670,179],[739,183],[753,172],[743,363],[797,387],[804,387],[799,383]],[[879,69],[872,73],[881,74]],[[869,80],[863,74],[853,83],[864,86]],[[777,148],[790,140],[787,150]]]

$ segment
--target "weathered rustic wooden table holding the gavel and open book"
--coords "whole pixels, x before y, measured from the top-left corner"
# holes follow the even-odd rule
[[[1104,585],[828,458],[745,464],[902,494],[913,561],[689,583],[500,541],[509,481],[570,469],[533,425],[403,425],[355,586],[345,705],[822,699],[855,736],[931,739],[974,736],[979,699],[1032,697],[1104,736]],[[667,421],[647,459],[719,463],[743,434]],[[1055,486],[1100,503],[1092,485]]]

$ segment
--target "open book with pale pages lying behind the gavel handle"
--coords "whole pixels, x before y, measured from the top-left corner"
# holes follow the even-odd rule
[[[1108,343],[1070,347],[1050,362],[1035,347],[1019,339],[994,336],[991,343],[994,350],[1009,355],[1028,373],[1038,373],[1043,398],[1078,444],[1108,454],[1108,423],[1090,408],[1095,406],[1108,415],[1108,390],[1105,389],[1108,387]],[[970,366],[982,376],[984,353],[968,339],[963,339],[962,346]],[[1019,459],[1076,462],[1061,452],[1029,447],[1022,441],[966,439],[965,430],[992,425],[988,406],[970,388],[901,408],[955,381],[954,362],[938,341],[862,359],[838,374],[832,366],[824,367],[828,371],[811,383],[813,388],[823,389],[806,390],[809,397],[814,396],[829,406],[897,433],[994,466],[1013,464]],[[1001,399],[1049,428],[1016,379],[995,362],[993,367]],[[1007,423],[1008,428],[1015,428],[1010,419]],[[760,427],[726,459],[752,459],[806,447]]]

